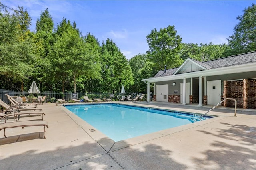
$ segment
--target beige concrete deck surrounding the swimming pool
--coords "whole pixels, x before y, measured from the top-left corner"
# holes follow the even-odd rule
[[[105,103],[105,102],[102,102]],[[115,102],[119,103],[119,102]],[[120,102],[203,114],[212,106],[162,102]],[[218,107],[218,117],[114,142],[62,105],[38,105],[48,121],[42,127],[0,132],[1,170],[180,170],[256,169],[256,110]],[[38,119],[22,117],[20,121]],[[13,121],[13,119],[8,119]]]

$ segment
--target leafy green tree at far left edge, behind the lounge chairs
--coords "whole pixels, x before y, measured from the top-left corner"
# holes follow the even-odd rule
[[[14,11],[1,4],[1,8],[1,85],[6,82],[2,87],[23,91],[24,81],[32,75],[34,62],[35,47],[31,41],[31,32],[28,30],[31,19],[21,7]],[[10,14],[9,10],[13,14]]]

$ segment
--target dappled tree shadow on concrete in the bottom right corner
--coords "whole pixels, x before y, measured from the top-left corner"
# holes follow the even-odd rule
[[[256,169],[256,147],[255,147],[255,127],[247,125],[227,125],[228,129],[218,129],[218,134],[212,134],[206,131],[199,131],[204,134],[216,136],[224,139],[226,142],[212,141],[210,148],[203,152],[204,159],[195,158],[194,162],[198,169],[212,165],[218,169]],[[202,146],[204,147],[204,146]],[[217,166],[216,166],[217,165]]]

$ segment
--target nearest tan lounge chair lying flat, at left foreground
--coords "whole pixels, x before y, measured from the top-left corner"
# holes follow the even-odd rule
[[[5,135],[5,129],[7,129],[7,128],[17,128],[17,127],[24,128],[24,127],[32,127],[32,126],[44,126],[43,136],[44,136],[44,138],[46,138],[45,135],[44,135],[45,127],[49,127],[47,121],[20,121],[20,122],[6,123],[6,119],[4,119],[4,122],[5,123],[1,124],[0,130],[4,129],[4,137],[5,138],[7,138],[6,135]]]

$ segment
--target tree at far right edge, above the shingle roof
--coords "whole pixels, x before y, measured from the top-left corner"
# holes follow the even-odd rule
[[[229,55],[256,50],[256,5],[244,9],[244,14],[236,18],[239,22],[234,27],[234,34],[228,38]]]

